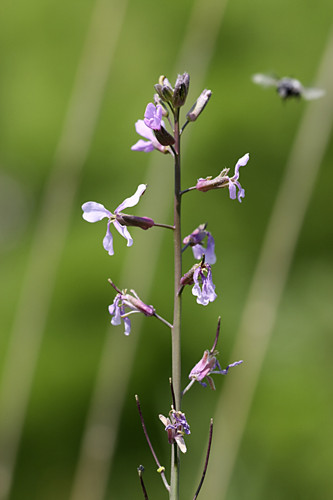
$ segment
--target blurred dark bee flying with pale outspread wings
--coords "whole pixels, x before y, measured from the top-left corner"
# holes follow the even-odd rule
[[[325,95],[325,90],[303,87],[299,80],[296,80],[296,78],[289,78],[289,76],[278,78],[277,76],[256,73],[253,75],[252,81],[253,83],[262,85],[262,87],[275,87],[282,99],[303,97],[306,101],[312,101],[313,99],[319,99]]]

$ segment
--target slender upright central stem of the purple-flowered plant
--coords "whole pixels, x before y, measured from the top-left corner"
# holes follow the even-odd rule
[[[172,382],[175,392],[176,408],[181,410],[182,392],[180,387],[180,324],[182,297],[178,295],[180,278],[182,277],[182,238],[180,234],[180,131],[179,131],[179,108],[175,110],[175,197],[173,211],[173,249],[175,259],[175,283],[174,283],[174,308],[172,328]],[[176,444],[172,446],[171,453],[171,485],[170,500],[179,500],[179,465],[180,451]]]

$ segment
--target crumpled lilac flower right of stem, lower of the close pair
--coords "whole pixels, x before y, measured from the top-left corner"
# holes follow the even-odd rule
[[[217,295],[214,292],[215,285],[212,280],[212,267],[209,264],[203,261],[200,264],[195,264],[180,279],[180,285],[182,286],[193,284],[192,294],[196,296],[197,303],[207,306],[208,303],[214,302]],[[201,288],[200,285],[202,285]]]

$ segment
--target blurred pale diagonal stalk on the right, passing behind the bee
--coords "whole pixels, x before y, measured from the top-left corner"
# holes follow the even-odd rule
[[[302,222],[333,124],[333,32],[316,86],[327,91],[307,104],[268,222],[257,268],[230,359],[244,365],[225,379],[214,416],[214,437],[203,496],[224,500],[244,435]],[[204,459],[203,459],[204,462]],[[199,473],[200,474],[200,473]]]

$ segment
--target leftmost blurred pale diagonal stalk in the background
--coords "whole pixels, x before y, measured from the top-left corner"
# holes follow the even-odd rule
[[[126,3],[96,1],[67,117],[44,190],[1,380],[0,500],[10,494],[35,366],[80,172],[92,142]]]

